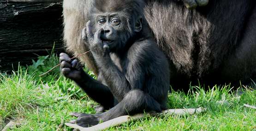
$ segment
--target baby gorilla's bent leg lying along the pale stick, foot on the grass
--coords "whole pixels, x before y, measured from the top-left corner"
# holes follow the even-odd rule
[[[72,113],[71,115],[78,117],[78,119],[71,121],[71,123],[88,127],[98,124],[100,120],[107,121],[122,115],[143,113],[143,111],[161,112],[161,105],[149,94],[139,89],[133,89],[125,95],[125,98],[119,104],[102,114]]]

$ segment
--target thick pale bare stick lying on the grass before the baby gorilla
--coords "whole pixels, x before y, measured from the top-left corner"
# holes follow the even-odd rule
[[[101,124],[95,125],[95,126],[91,126],[88,128],[84,128],[82,126],[78,126],[76,124],[70,124],[70,123],[65,123],[66,126],[69,126],[71,128],[77,129],[79,131],[102,131],[105,130],[109,127],[113,127],[113,126],[118,126],[120,124],[126,123],[126,122],[130,122],[133,120],[138,120],[140,118],[143,117],[148,117],[148,116],[161,116],[161,115],[185,115],[185,114],[196,114],[196,113],[201,113],[203,111],[205,111],[205,108],[197,108],[197,109],[168,109],[168,110],[164,110],[162,113],[143,113],[143,114],[137,114],[137,115],[124,115],[124,116],[120,116],[118,118],[112,119],[112,120],[108,120],[106,122],[103,122]]]

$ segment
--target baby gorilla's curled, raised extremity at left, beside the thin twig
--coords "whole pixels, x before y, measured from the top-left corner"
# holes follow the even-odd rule
[[[60,72],[71,80],[79,81],[82,79],[83,68],[78,60],[71,60],[67,54],[60,53]]]

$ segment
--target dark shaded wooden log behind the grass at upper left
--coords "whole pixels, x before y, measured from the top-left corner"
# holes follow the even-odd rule
[[[0,72],[63,51],[62,22],[62,0],[0,0]]]

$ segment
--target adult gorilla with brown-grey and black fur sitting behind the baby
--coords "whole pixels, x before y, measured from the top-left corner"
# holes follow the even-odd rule
[[[64,40],[75,55],[94,0],[64,0]],[[209,0],[187,9],[180,0],[145,0],[145,17],[170,60],[170,83],[186,90],[192,82],[234,84],[256,80],[256,0]],[[91,54],[81,61],[98,74]]]

